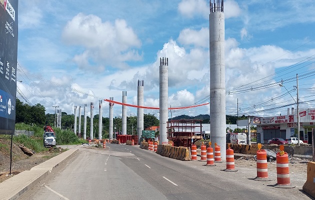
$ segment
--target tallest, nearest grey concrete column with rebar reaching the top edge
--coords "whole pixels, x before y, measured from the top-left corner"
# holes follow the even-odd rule
[[[210,0],[210,133],[211,142],[220,146],[221,157],[226,157],[225,65],[223,0]],[[216,2],[216,3],[215,3]]]

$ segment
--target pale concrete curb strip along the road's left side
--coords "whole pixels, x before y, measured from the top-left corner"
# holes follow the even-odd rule
[[[22,193],[31,189],[36,183],[46,177],[51,170],[59,164],[67,160],[70,155],[78,149],[69,149],[59,155],[56,155],[37,166],[32,167],[28,171],[22,171],[9,179],[0,182],[0,199],[13,200],[19,197]]]

